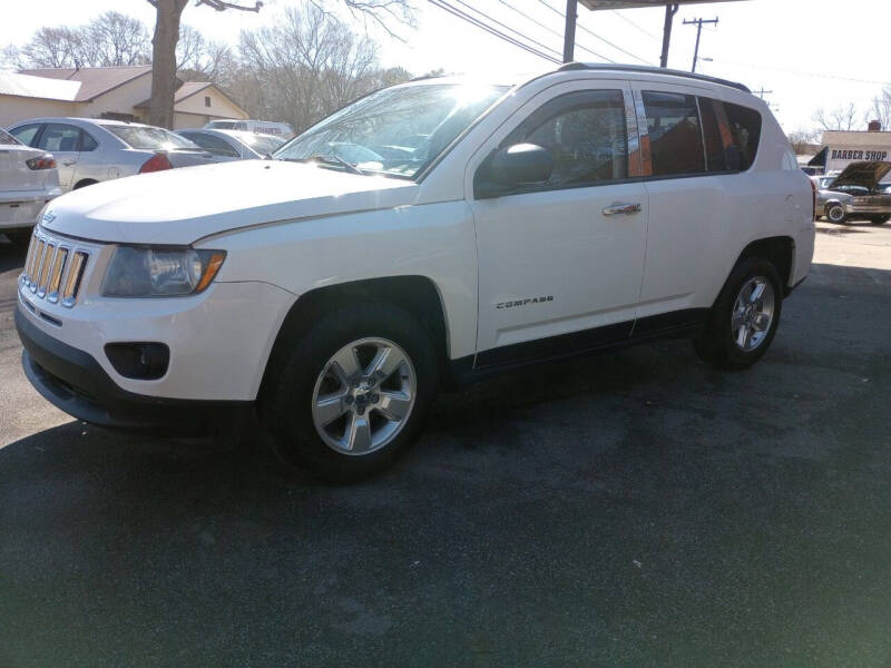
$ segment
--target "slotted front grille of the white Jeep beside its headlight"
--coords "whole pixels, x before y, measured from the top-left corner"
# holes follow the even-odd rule
[[[28,247],[21,281],[39,298],[61,301],[69,308],[77,303],[89,253],[77,243],[36,230]]]

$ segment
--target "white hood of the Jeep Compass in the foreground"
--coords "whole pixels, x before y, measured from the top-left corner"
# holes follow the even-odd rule
[[[417,194],[402,179],[243,160],[80,188],[53,199],[41,225],[97,242],[179,245],[264,223],[403,206]]]

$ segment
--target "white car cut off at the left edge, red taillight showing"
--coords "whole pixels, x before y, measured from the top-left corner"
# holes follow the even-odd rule
[[[40,209],[61,194],[56,158],[0,129],[0,234],[27,244]]]

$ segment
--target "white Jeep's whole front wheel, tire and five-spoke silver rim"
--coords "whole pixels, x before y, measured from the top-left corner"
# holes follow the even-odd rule
[[[432,340],[390,304],[332,312],[290,353],[264,402],[275,454],[324,480],[372,475],[418,434],[437,392]]]

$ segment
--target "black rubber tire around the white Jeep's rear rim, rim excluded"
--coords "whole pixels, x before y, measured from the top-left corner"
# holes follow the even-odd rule
[[[773,317],[761,343],[752,351],[744,351],[733,335],[731,322],[734,305],[743,287],[755,277],[766,278],[773,288]],[[694,347],[699,358],[722,371],[742,371],[748,369],[764,356],[776,334],[783,305],[783,292],[780,276],[773,263],[763,258],[742,259],[733,269],[724,284],[715,304],[708,314],[703,334],[694,340]]]

